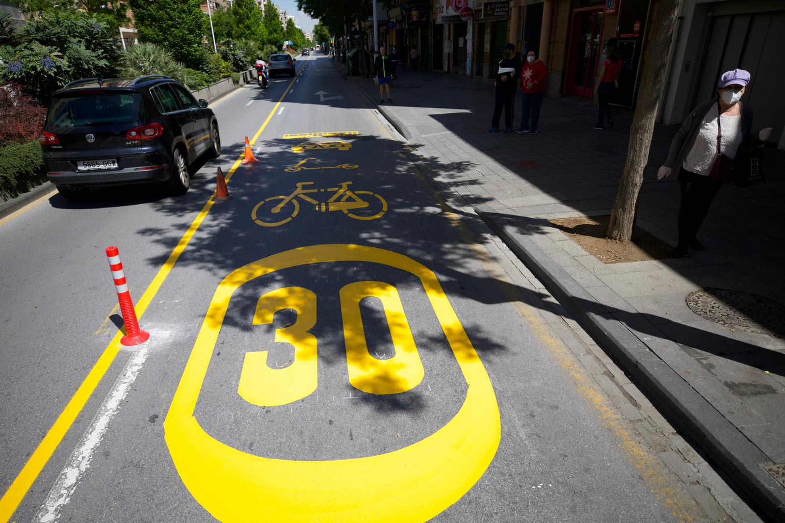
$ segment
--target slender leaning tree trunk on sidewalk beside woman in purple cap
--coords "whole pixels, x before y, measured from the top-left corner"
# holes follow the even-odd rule
[[[630,241],[633,233],[635,205],[643,184],[643,172],[652,145],[654,120],[659,106],[659,89],[667,74],[665,63],[670,39],[678,13],[679,0],[655,0],[644,49],[641,86],[635,102],[635,114],[630,127],[630,145],[624,163],[619,191],[613,205],[606,236],[611,240]]]

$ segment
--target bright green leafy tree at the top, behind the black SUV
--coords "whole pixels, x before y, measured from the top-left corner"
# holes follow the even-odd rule
[[[201,4],[202,0],[130,0],[139,39],[166,47],[177,60],[199,68],[208,24]]]

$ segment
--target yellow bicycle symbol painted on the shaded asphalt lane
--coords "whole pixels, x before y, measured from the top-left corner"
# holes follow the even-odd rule
[[[262,227],[283,225],[300,212],[298,198],[312,203],[316,210],[323,213],[330,210],[341,210],[355,220],[375,220],[382,218],[382,214],[387,212],[387,202],[382,196],[371,191],[352,191],[349,188],[349,185],[352,185],[351,181],[344,181],[339,187],[331,188],[304,188],[305,185],[313,185],[313,182],[298,182],[297,188],[289,196],[270,196],[268,199],[263,199],[251,211],[250,217],[254,219],[254,223]],[[335,194],[326,202],[318,202],[308,196],[316,192],[334,192]],[[375,199],[371,198],[371,203],[369,203],[358,195],[374,196]],[[339,198],[340,201],[338,201]],[[284,210],[284,207],[287,207],[287,210]],[[358,209],[365,211],[362,214],[349,212]]]

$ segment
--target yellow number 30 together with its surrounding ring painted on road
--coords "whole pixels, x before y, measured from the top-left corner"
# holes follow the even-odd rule
[[[199,426],[194,409],[232,294],[244,283],[271,272],[329,262],[378,263],[403,269],[419,278],[466,379],[466,400],[462,407],[429,437],[393,452],[362,458],[272,459],[217,441]],[[359,309],[360,299],[367,295],[382,298],[385,305],[396,344],[396,357],[390,360],[376,360],[367,353]],[[238,392],[254,404],[271,404],[271,401],[286,404],[316,389],[316,338],[307,332],[316,321],[315,296],[302,287],[285,287],[265,294],[257,303],[254,324],[270,323],[272,314],[283,308],[298,313],[294,325],[276,331],[276,341],[289,342],[295,347],[295,362],[290,366],[294,370],[289,372],[297,373],[297,386],[276,391],[272,387],[255,388],[254,373],[266,373],[265,379],[271,379],[284,369],[265,370],[265,351],[247,353],[243,364],[245,386],[241,375]],[[352,386],[370,393],[397,393],[411,389],[422,380],[422,363],[414,340],[409,339],[411,331],[403,324],[406,321],[403,307],[393,287],[378,282],[350,283],[341,289],[341,313]],[[348,333],[347,329],[353,331]],[[395,363],[390,364],[392,361]],[[400,382],[379,388],[379,382],[384,381],[377,379],[379,373],[399,369],[403,369],[398,376]],[[292,385],[285,377],[272,379]],[[436,275],[403,254],[348,244],[285,251],[245,265],[225,277],[215,291],[196,338],[164,429],[174,465],[188,491],[218,520],[239,523],[426,521],[458,501],[480,479],[496,453],[501,436],[491,380]]]

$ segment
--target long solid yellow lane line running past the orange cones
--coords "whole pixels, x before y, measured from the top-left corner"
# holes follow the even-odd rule
[[[294,85],[295,79],[297,79],[297,76],[295,76],[289,83],[289,86],[287,86],[287,89],[283,92],[275,107],[272,108],[272,111],[268,115],[267,119],[265,119],[265,123],[262,123],[257,133],[254,134],[254,140],[250,142],[251,144],[253,144],[261,132],[265,130],[265,127],[269,123],[270,119],[272,119],[272,115],[275,114],[276,109],[280,105],[281,101],[283,101],[283,97],[287,95],[291,89],[291,86]],[[226,175],[226,181],[229,181],[232,178],[232,174],[234,174],[235,170],[237,170],[237,167],[240,165],[242,159],[243,155],[240,155],[239,158],[235,161],[232,169],[230,169]],[[174,264],[177,262],[177,259],[180,258],[180,255],[185,250],[185,247],[188,246],[188,243],[191,241],[196,230],[199,229],[200,225],[202,225],[202,221],[207,216],[207,213],[210,212],[210,209],[215,203],[214,196],[215,192],[213,193],[213,196],[210,196],[210,199],[207,200],[207,203],[205,203],[204,207],[196,216],[196,218],[194,218],[191,226],[188,227],[188,230],[180,239],[180,242],[177,243],[177,247],[174,247],[174,250],[169,255],[169,258],[166,260],[166,262],[164,262],[161,269],[159,269],[159,272],[155,275],[155,278],[153,278],[152,283],[150,283],[147,290],[144,291],[144,294],[142,294],[139,302],[137,302],[137,316],[141,317],[144,314],[144,311],[148,308],[150,302],[152,302],[152,299],[159,291],[162,283],[164,280],[166,280],[166,276],[169,276],[169,273],[171,272]],[[115,335],[115,338],[109,342],[109,345],[106,347],[106,349],[104,349],[104,353],[100,355],[95,365],[93,365],[93,368],[90,369],[85,380],[79,386],[79,389],[76,390],[74,396],[71,397],[71,400],[68,401],[68,404],[65,406],[63,411],[60,412],[60,415],[57,417],[57,420],[54,422],[52,428],[50,428],[49,432],[46,433],[46,436],[44,436],[41,443],[38,444],[38,447],[35,448],[35,451],[30,456],[30,459],[27,459],[27,463],[24,464],[22,470],[20,470],[19,475],[16,476],[11,486],[9,486],[8,490],[5,491],[5,494],[3,494],[2,499],[0,499],[0,521],[9,521],[11,516],[13,516],[13,513],[16,511],[16,507],[19,507],[19,504],[22,502],[22,499],[24,499],[27,491],[38,477],[38,474],[41,474],[41,470],[43,470],[46,462],[49,461],[49,458],[51,458],[55,450],[57,450],[57,446],[60,444],[60,441],[63,440],[63,437],[68,432],[68,429],[71,428],[74,420],[82,411],[82,408],[84,408],[87,400],[89,400],[89,397],[93,394],[93,391],[100,383],[100,380],[104,378],[104,375],[108,371],[109,366],[119,353],[119,350],[122,347],[120,345],[120,338],[122,338],[122,331],[118,332]]]

